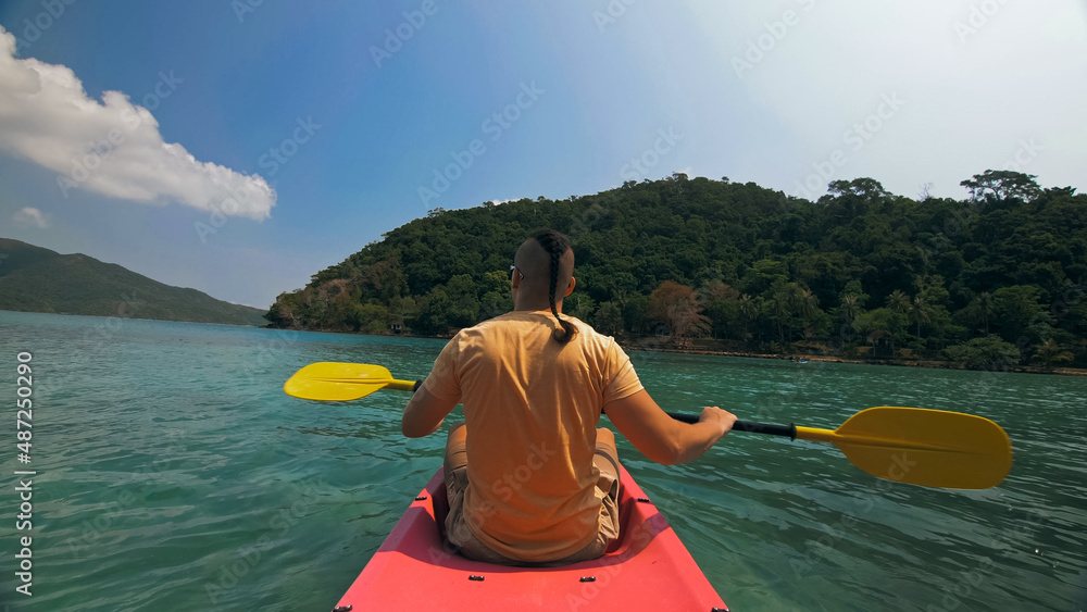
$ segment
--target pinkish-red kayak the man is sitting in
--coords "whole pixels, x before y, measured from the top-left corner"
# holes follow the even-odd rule
[[[457,554],[443,537],[449,503],[430,478],[334,612],[370,610],[727,611],[657,507],[620,466],[620,537],[600,559],[511,567]]]

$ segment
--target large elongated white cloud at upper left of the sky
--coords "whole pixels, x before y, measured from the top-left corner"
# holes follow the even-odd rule
[[[159,76],[153,95],[143,98],[146,104],[184,87],[184,79],[170,71]],[[254,220],[270,216],[276,200],[263,177],[198,161],[182,145],[165,142],[151,112],[134,105],[126,95],[107,91],[99,103],[87,97],[71,68],[16,59],[15,37],[3,27],[0,151],[55,171],[65,197],[87,189]]]

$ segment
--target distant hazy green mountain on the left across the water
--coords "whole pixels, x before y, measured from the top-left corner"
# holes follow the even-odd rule
[[[264,325],[263,310],[163,285],[83,253],[0,238],[0,310]]]

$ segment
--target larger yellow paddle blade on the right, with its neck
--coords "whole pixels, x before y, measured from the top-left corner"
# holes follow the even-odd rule
[[[1012,467],[1012,444],[1000,425],[959,412],[870,408],[834,432],[797,427],[797,437],[834,442],[878,478],[925,487],[986,489]]]

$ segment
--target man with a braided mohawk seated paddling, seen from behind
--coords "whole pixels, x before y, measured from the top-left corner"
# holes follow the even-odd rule
[[[470,559],[559,565],[596,559],[619,536],[619,459],[602,412],[652,461],[690,461],[736,417],[717,407],[673,421],[611,337],[562,317],[574,290],[570,240],[542,230],[517,249],[513,312],[462,329],[404,409],[408,437],[433,434],[458,403],[446,445],[446,532]]]

